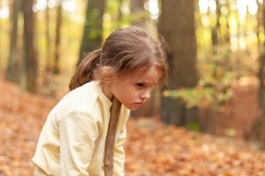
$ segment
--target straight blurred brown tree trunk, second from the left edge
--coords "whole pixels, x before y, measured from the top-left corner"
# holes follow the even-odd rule
[[[24,11],[24,71],[25,86],[32,93],[36,92],[38,63],[36,51],[33,48],[33,0],[23,1]]]

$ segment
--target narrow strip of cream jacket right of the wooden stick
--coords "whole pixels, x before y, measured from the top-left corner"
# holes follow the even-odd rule
[[[124,163],[125,163],[125,151],[123,144],[126,141],[126,122],[129,118],[130,111],[128,109],[122,109],[121,111],[121,128],[119,133],[116,135],[116,143],[114,146],[114,176],[124,175]]]

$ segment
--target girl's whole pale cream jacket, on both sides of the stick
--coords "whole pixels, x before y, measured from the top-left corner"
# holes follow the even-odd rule
[[[105,139],[112,102],[98,81],[70,91],[52,109],[43,126],[33,162],[36,175],[103,176]],[[121,107],[114,148],[114,175],[124,175],[126,121]],[[38,173],[38,170],[42,170]]]

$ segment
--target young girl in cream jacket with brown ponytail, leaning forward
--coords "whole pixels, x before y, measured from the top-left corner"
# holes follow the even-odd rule
[[[121,102],[114,147],[114,175],[124,175],[126,121],[153,86],[167,79],[160,45],[142,27],[117,29],[91,52],[70,81],[70,93],[52,109],[33,162],[36,175],[104,174],[104,150],[112,98]]]

